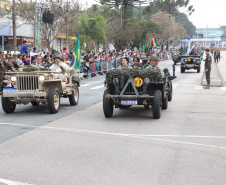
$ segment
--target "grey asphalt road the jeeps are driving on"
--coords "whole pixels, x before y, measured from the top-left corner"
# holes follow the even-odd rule
[[[0,184],[225,184],[226,89],[176,71],[159,120],[141,106],[106,119],[104,76],[83,80],[79,104],[62,99],[55,115],[44,105],[0,110]]]

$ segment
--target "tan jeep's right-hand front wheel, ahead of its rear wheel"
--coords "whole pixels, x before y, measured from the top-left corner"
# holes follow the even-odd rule
[[[55,114],[60,108],[60,91],[56,87],[51,87],[48,94],[48,108],[51,114]]]

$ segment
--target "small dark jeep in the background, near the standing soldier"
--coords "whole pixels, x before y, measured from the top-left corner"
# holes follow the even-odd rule
[[[185,70],[195,69],[197,73],[200,73],[201,69],[201,57],[200,56],[182,56],[181,59],[181,73],[184,73]]]

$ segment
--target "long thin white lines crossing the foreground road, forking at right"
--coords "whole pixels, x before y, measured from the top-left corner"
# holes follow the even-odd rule
[[[47,130],[62,130],[62,131],[71,131],[71,132],[80,132],[80,133],[89,133],[89,134],[100,134],[100,135],[108,135],[108,136],[111,135],[111,136],[118,136],[118,137],[140,138],[140,139],[148,139],[148,140],[155,140],[155,141],[171,142],[171,143],[202,146],[202,147],[207,147],[207,148],[215,148],[215,149],[226,150],[226,147],[220,147],[220,146],[214,146],[214,145],[205,145],[205,144],[200,144],[200,143],[192,143],[192,142],[183,142],[183,141],[175,141],[175,140],[168,140],[168,139],[152,138],[152,137],[171,137],[171,138],[226,139],[226,136],[141,135],[141,134],[124,134],[124,133],[100,132],[100,131],[92,131],[92,130],[78,130],[78,129],[69,129],[69,128],[57,128],[57,127],[47,127],[47,126],[38,127],[38,126],[31,126],[31,125],[24,125],[24,124],[14,124],[14,123],[0,123],[0,125],[11,125],[11,126],[39,128],[39,129],[47,129]]]

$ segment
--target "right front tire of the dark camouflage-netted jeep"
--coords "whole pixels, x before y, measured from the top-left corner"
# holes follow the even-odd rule
[[[153,118],[159,119],[161,117],[162,93],[160,90],[155,90],[152,105]]]

